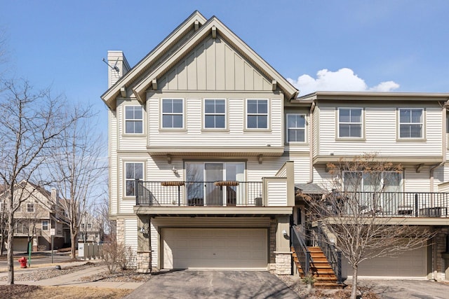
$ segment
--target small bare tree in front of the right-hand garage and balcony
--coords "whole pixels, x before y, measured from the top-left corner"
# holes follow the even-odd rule
[[[406,225],[391,211],[401,200],[401,165],[365,154],[327,167],[333,176],[332,192],[322,200],[306,200],[311,219],[323,227],[315,237],[335,245],[352,267],[351,298],[355,299],[363,260],[427,246],[434,234]]]

